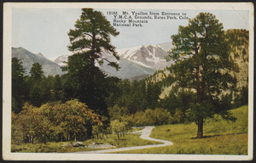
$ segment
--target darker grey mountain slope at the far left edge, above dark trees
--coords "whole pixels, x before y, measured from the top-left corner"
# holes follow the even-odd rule
[[[55,62],[46,59],[42,53],[32,53],[25,48],[12,48],[12,58],[18,58],[22,61],[22,65],[25,68],[25,74],[30,75],[29,72],[34,63],[42,65],[44,76],[56,76],[62,75],[64,72],[61,70],[60,65]]]

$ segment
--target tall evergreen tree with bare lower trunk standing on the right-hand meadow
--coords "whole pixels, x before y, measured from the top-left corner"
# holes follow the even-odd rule
[[[229,71],[235,70],[230,48],[224,37],[223,25],[213,14],[201,13],[189,25],[179,26],[172,36],[174,48],[169,59],[179,87],[194,88],[197,103],[189,108],[190,121],[198,126],[197,138],[203,137],[203,121],[215,113],[235,120],[218,98],[222,90],[233,86],[236,80]]]

